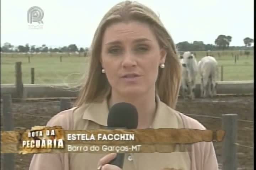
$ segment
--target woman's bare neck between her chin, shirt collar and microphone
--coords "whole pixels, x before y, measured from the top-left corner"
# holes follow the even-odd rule
[[[108,106],[113,106],[119,102],[126,102],[133,104],[138,111],[138,129],[150,128],[155,112],[156,112],[156,100],[155,92],[147,93],[139,96],[121,96],[115,92],[111,92],[110,99],[108,100]]]

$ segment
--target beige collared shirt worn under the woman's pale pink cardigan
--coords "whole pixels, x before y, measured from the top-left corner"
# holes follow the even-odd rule
[[[181,117],[174,110],[156,98],[157,108],[152,128],[184,128]],[[107,100],[102,103],[86,104],[74,113],[74,130],[104,129],[107,126]],[[93,170],[98,160],[106,154],[70,153],[71,170]],[[134,153],[126,154],[123,170],[190,170],[190,157],[187,152],[173,153]]]

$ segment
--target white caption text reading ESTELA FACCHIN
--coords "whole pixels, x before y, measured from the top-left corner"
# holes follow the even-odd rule
[[[68,141],[134,141],[134,134],[67,134]]]

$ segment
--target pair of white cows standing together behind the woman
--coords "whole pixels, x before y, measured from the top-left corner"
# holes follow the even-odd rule
[[[216,80],[218,78],[218,62],[212,56],[205,56],[199,62],[190,51],[180,55],[182,64],[181,95],[194,99],[196,78],[201,78],[201,97],[216,95]]]

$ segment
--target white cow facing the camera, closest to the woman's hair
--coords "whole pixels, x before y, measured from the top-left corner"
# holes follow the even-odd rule
[[[193,99],[194,89],[196,87],[196,76],[198,73],[197,60],[190,51],[184,52],[180,58],[182,63],[182,95],[186,97],[185,92],[187,92],[187,96]]]

